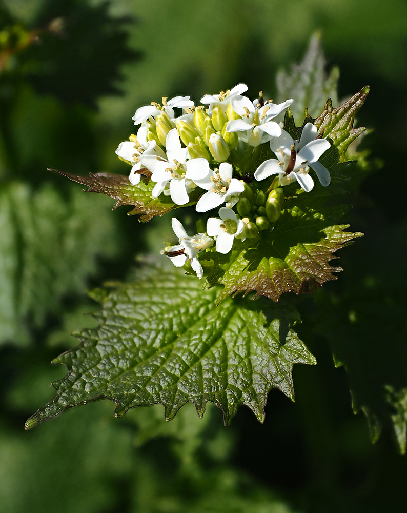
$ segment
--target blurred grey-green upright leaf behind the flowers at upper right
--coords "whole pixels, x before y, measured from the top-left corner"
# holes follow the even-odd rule
[[[332,68],[329,76],[325,74],[325,58],[320,44],[320,34],[311,37],[308,50],[301,64],[292,65],[291,73],[280,70],[277,73],[277,101],[287,98],[295,101],[291,111],[297,120],[304,117],[304,111],[317,115],[323,109],[327,98],[338,102],[337,84],[339,69]]]

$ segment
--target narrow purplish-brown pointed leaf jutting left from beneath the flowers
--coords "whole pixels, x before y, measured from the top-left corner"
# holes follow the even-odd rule
[[[142,180],[138,185],[132,185],[128,177],[121,174],[90,173],[89,176],[78,176],[56,169],[49,169],[49,171],[66,176],[78,184],[87,185],[89,189],[84,189],[85,192],[101,192],[110,196],[116,200],[113,210],[123,205],[133,205],[134,209],[128,213],[129,215],[142,214],[139,218],[141,223],[150,221],[155,215],[161,216],[174,208],[179,208],[170,196],[161,194],[159,198],[152,198],[151,191],[154,184],[148,180],[146,180],[148,183]],[[182,205],[183,207],[196,203],[195,196],[191,194],[191,197],[193,200],[187,205]]]

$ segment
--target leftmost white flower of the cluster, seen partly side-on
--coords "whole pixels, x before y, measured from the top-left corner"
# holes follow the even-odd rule
[[[116,155],[132,164],[129,180],[132,185],[140,183],[141,155],[155,155],[165,157],[164,151],[156,145],[155,141],[147,141],[147,123],[143,123],[137,131],[136,140],[123,141],[116,149]]]

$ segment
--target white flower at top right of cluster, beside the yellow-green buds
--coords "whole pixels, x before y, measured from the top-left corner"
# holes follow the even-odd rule
[[[278,105],[269,102],[261,107],[258,103],[254,105],[246,96],[235,96],[232,98],[232,107],[242,119],[230,121],[226,131],[239,132],[242,141],[251,146],[266,143],[271,137],[281,135],[280,125],[271,120],[287,109],[293,101],[286,100]]]

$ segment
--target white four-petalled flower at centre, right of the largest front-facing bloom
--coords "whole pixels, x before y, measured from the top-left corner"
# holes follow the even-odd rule
[[[226,201],[227,206],[233,206],[237,202],[237,196],[245,190],[245,186],[240,180],[232,178],[232,175],[232,165],[229,162],[222,162],[216,172],[210,169],[205,178],[193,180],[196,185],[208,191],[196,204],[197,212],[207,212]]]

